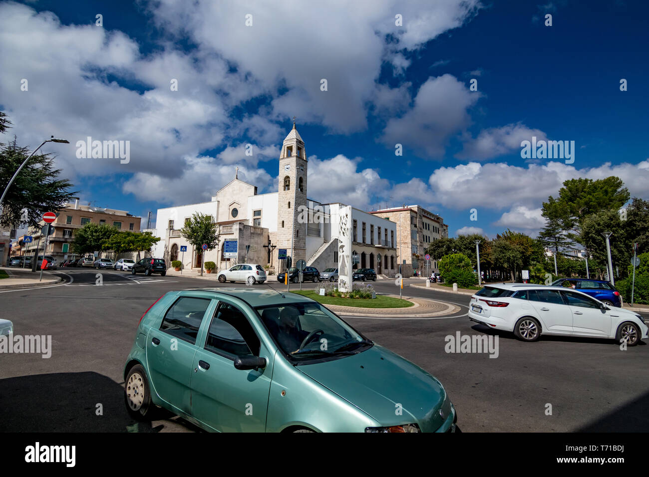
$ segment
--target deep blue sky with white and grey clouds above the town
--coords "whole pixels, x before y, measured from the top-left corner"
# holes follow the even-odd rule
[[[23,145],[71,141],[45,150],[82,201],[143,217],[210,200],[237,165],[276,190],[293,115],[310,198],[418,203],[451,236],[535,234],[542,202],[572,177],[618,175],[649,199],[644,2],[430,4],[3,3],[0,107]],[[77,158],[87,136],[129,140],[129,163]],[[574,163],[521,158],[532,136],[574,141]]]

